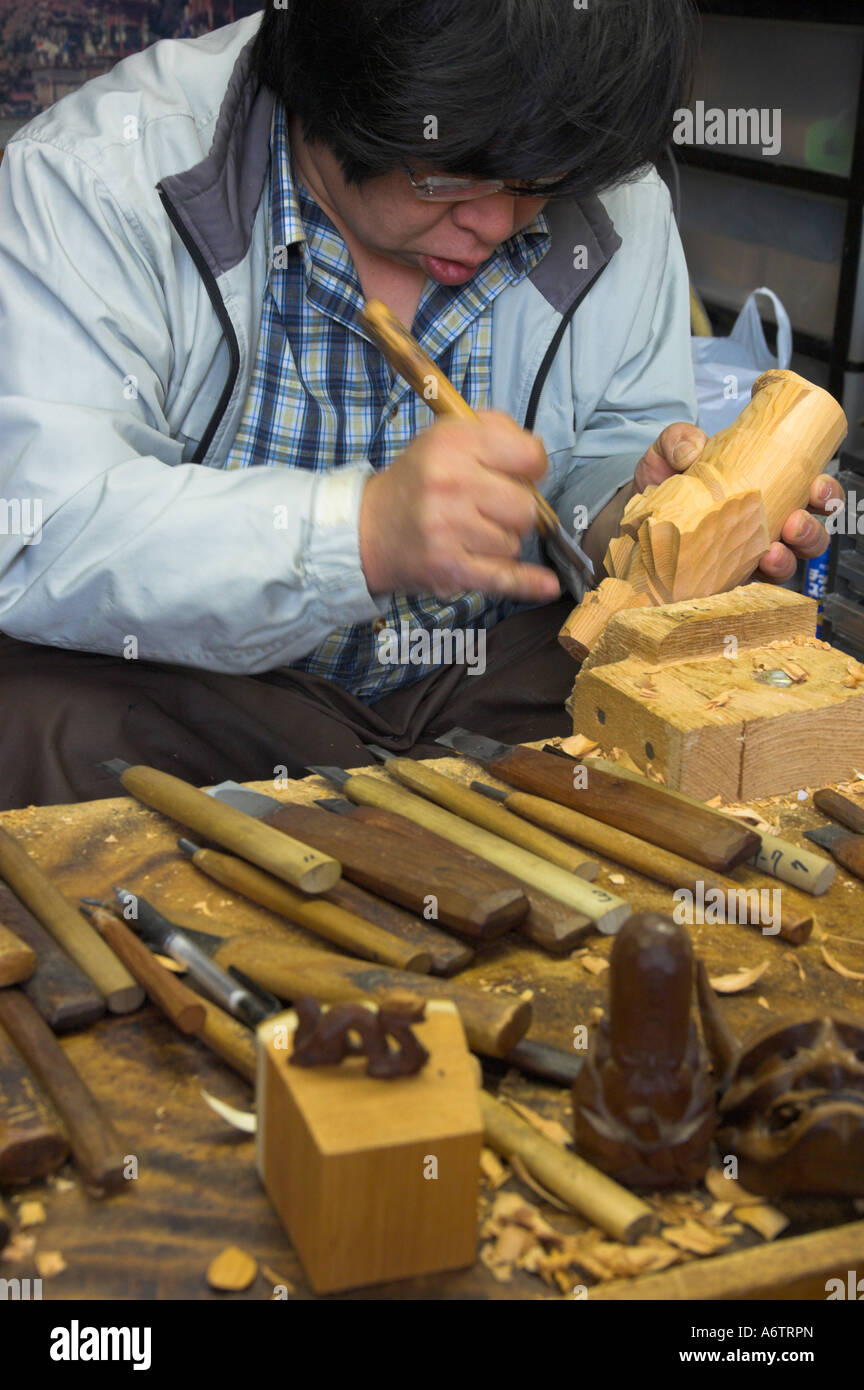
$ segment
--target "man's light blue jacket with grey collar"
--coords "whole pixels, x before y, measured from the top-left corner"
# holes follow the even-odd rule
[[[328,473],[225,467],[269,254],[274,96],[250,70],[258,22],[157,43],[8,145],[11,637],[114,655],[135,638],[142,659],[256,673],[386,607],[360,564],[364,459]],[[492,395],[546,443],[543,491],[570,525],[575,505],[593,517],[614,496],[664,425],[696,418],[688,277],[653,172],[549,215],[551,250],[495,304]],[[40,530],[22,534],[26,517]],[[540,557],[536,538],[524,553]]]

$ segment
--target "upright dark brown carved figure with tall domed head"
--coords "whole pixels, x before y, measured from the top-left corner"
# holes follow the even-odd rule
[[[692,992],[685,929],[632,917],[613,947],[608,1022],[572,1091],[578,1152],[631,1187],[690,1187],[708,1166],[714,1094]]]

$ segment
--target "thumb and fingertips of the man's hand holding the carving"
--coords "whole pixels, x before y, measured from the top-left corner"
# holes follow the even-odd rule
[[[645,492],[653,484],[671,478],[674,473],[685,473],[701,455],[707,438],[696,425],[670,425],[640,459],[635,491]],[[810,509],[825,516],[829,502],[843,498],[840,484],[822,474],[815,478],[810,489]],[[781,532],[781,539],[763,555],[757,573],[772,584],[785,584],[795,574],[799,560],[811,560],[822,555],[829,545],[831,537],[810,513],[793,512]]]

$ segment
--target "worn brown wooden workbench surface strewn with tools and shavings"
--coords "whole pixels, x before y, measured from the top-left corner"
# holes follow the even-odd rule
[[[476,774],[474,766],[458,759],[440,759],[431,766],[463,781]],[[372,770],[371,776],[386,774]],[[253,785],[272,794],[271,784]],[[289,790],[278,795],[286,801],[313,801],[322,795],[322,787],[318,778],[308,778],[289,784]],[[326,790],[332,794],[329,784]],[[810,801],[795,798],[764,803],[763,813],[781,824],[786,838],[796,841],[803,830],[824,823]],[[83,894],[108,895],[114,884],[122,884],[188,926],[219,935],[247,930],[282,938],[288,935],[297,942],[328,949],[326,942],[315,941],[303,929],[286,924],[204,878],[176,849],[179,828],[125,796],[76,806],[7,812],[0,819],[72,901]],[[660,888],[618,865],[601,860],[601,866],[600,884],[608,883],[610,872],[624,873],[626,883],[614,885],[618,895],[639,909],[671,912],[671,890]],[[772,880],[765,883],[778,887]],[[783,887],[786,894],[792,899],[793,891]],[[828,937],[835,937],[833,954],[851,969],[864,970],[864,884],[850,880],[838,867],[835,884],[824,898],[797,897],[814,910],[818,927],[814,940],[795,951],[747,927],[692,929],[696,949],[704,956],[711,974],[771,962],[771,969],[754,990],[724,1001],[726,1016],[739,1031],[751,1030],[771,1017],[779,1020],[800,1008],[814,1012],[845,1008],[864,1015],[864,983],[846,980],[831,970],[821,959],[818,940],[818,929],[822,929]],[[590,942],[595,955],[607,955],[610,947],[608,938],[596,937]],[[803,966],[803,980],[793,956]],[[564,1048],[572,1041],[574,1026],[588,1023],[592,1008],[606,1004],[606,979],[589,974],[579,958],[553,960],[508,937],[486,949],[460,976],[465,983],[508,994],[531,990],[535,1009],[531,1036]],[[760,997],[770,1012],[757,1002]],[[176,1033],[150,1005],[135,1015],[107,1017],[86,1031],[67,1036],[63,1045],[114,1120],[124,1140],[124,1152],[138,1158],[139,1177],[129,1183],[128,1191],[103,1201],[83,1193],[72,1169],[64,1169],[60,1184],[51,1179],[25,1191],[28,1198],[39,1198],[47,1212],[46,1223],[29,1230],[38,1240],[38,1250],[61,1251],[67,1262],[61,1275],[44,1280],[44,1298],[231,1297],[261,1301],[272,1297],[276,1276],[289,1286],[289,1297],[310,1298],[303,1270],[260,1187],[254,1141],[222,1122],[200,1094],[204,1088],[240,1109],[251,1109],[251,1090],[203,1044]],[[521,1098],[570,1125],[565,1091],[526,1083],[514,1073],[506,1077],[504,1073],[504,1066],[493,1066],[488,1080],[518,1088]],[[74,1186],[68,1179],[74,1180]],[[536,1201],[533,1194],[528,1195]],[[14,1209],[14,1202],[10,1205]],[[803,1201],[785,1207],[793,1215],[790,1236],[857,1222],[851,1234],[843,1236],[839,1258],[846,1270],[850,1268],[850,1251],[857,1251],[864,1268],[864,1220],[854,1204]],[[561,1229],[567,1229],[565,1216],[550,1215],[561,1223]],[[206,1269],[211,1258],[231,1244],[251,1254],[268,1275],[260,1273],[243,1294],[217,1294],[207,1286]],[[763,1241],[749,1232],[743,1244],[761,1247]],[[774,1248],[779,1255],[781,1247]],[[714,1265],[721,1258],[728,1257],[714,1257],[701,1264]],[[781,1259],[779,1264],[786,1266],[786,1273],[770,1283],[775,1295],[785,1284],[792,1286],[797,1280],[797,1295],[825,1297],[826,1273],[821,1265],[815,1268],[818,1261],[810,1282],[807,1270],[799,1268],[800,1262]],[[681,1272],[682,1289],[690,1268],[683,1266]],[[15,1265],[4,1261],[0,1273],[6,1277],[35,1277],[36,1268],[32,1261]],[[631,1287],[624,1294],[639,1297],[642,1280],[628,1283]],[[603,1295],[617,1294],[606,1287]],[[651,1294],[646,1284],[646,1295],[667,1294]],[[524,1273],[517,1273],[508,1284],[496,1283],[478,1261],[461,1273],[360,1290],[343,1297],[546,1300],[560,1298],[561,1294]]]

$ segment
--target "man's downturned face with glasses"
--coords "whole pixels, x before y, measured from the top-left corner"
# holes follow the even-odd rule
[[[344,182],[329,150],[318,145],[311,152],[308,146],[299,152],[293,140],[292,146],[310,192],[331,217],[336,214],[367,253],[419,267],[442,285],[471,279],[496,247],[528,227],[545,206],[542,197],[511,193],[429,203],[417,196],[404,170],[357,188]],[[422,172],[415,178],[422,178]]]

